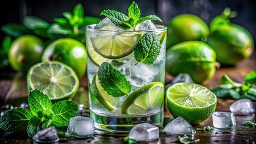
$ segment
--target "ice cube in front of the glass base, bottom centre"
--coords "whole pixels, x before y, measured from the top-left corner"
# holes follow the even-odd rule
[[[159,138],[159,128],[148,123],[137,124],[130,130],[129,137],[136,141],[149,142]]]

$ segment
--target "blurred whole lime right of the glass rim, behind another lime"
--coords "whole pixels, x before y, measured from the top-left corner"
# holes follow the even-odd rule
[[[209,35],[209,28],[204,20],[193,14],[174,17],[169,21],[167,28],[167,48],[183,41],[201,40]]]

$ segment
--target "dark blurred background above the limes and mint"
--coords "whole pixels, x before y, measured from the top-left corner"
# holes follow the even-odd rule
[[[138,0],[135,1],[141,9],[142,16],[156,14],[167,25],[172,17],[182,13],[190,13],[200,16],[208,25],[213,17],[221,14],[225,7],[237,11],[238,16],[231,22],[239,24],[256,39],[256,2],[254,0]],[[102,10],[114,9],[127,13],[127,8],[132,1],[122,0],[8,0],[1,1],[0,26],[5,23],[20,23],[26,15],[38,16],[47,22],[52,23],[54,17],[62,17],[62,12],[72,11],[76,4],[81,3],[85,9],[85,16],[96,16]],[[102,17],[103,18],[103,17]],[[0,40],[4,37],[1,31]]]

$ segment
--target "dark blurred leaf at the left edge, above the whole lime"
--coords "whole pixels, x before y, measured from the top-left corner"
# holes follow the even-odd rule
[[[19,37],[21,35],[28,34],[28,31],[22,26],[17,23],[7,23],[4,26],[2,26],[2,31],[5,32],[5,34],[11,36],[11,37]]]

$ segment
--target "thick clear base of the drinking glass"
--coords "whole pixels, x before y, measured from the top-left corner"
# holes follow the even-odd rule
[[[90,112],[94,125],[99,130],[105,130],[113,133],[129,133],[136,125],[141,123],[149,123],[161,127],[163,125],[163,111],[151,116],[134,117],[134,118],[116,118],[110,116],[97,115]]]

